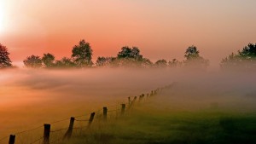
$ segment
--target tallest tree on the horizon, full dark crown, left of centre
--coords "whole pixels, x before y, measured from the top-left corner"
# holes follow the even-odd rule
[[[75,45],[72,50],[72,58],[76,66],[92,66],[92,49],[90,48],[90,43],[83,40],[79,42],[79,45]]]

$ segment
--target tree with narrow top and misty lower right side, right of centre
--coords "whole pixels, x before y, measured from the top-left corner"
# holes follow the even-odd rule
[[[188,49],[186,49],[184,57],[184,66],[190,66],[198,69],[206,69],[209,66],[209,60],[204,59],[199,55],[199,50],[192,45]]]

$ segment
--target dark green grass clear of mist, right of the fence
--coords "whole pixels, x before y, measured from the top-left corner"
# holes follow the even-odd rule
[[[255,144],[256,114],[148,112],[135,109],[108,124],[94,124],[68,144]]]

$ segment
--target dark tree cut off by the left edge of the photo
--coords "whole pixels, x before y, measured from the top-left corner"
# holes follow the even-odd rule
[[[9,52],[6,46],[0,43],[0,68],[12,66],[12,61],[9,59]]]

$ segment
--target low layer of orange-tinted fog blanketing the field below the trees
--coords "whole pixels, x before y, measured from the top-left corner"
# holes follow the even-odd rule
[[[174,83],[175,82],[175,83]],[[219,108],[255,112],[256,78],[249,72],[171,69],[0,71],[0,137],[38,124],[95,112],[173,84],[151,101],[161,112]]]

